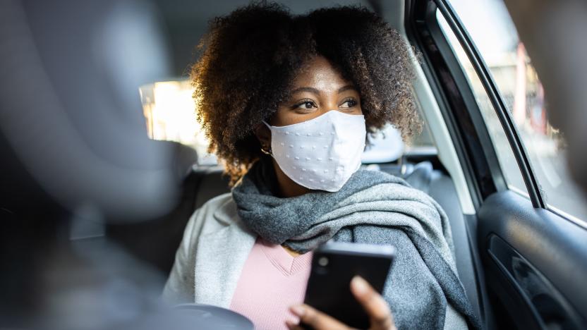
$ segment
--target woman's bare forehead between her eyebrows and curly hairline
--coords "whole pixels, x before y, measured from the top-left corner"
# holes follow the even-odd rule
[[[352,85],[343,78],[341,72],[323,56],[309,59],[294,77],[293,87],[314,87],[317,90],[338,90],[344,85]]]

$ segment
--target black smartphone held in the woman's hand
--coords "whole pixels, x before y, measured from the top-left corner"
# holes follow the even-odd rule
[[[394,257],[392,245],[341,242],[321,245],[312,257],[304,302],[347,326],[368,329],[369,318],[351,293],[351,279],[361,276],[382,293]],[[308,325],[301,326],[311,329]]]

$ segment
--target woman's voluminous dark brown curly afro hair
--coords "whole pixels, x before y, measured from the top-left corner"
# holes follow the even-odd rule
[[[196,114],[231,185],[262,156],[255,128],[277,111],[313,56],[324,56],[357,87],[368,132],[387,123],[404,138],[420,130],[409,46],[366,8],[293,16],[278,4],[250,4],[214,18],[198,50],[191,69]]]

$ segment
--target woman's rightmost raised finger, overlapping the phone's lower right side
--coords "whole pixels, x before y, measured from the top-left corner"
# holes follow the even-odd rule
[[[369,315],[372,329],[396,329],[387,302],[361,276],[353,277],[351,291]]]

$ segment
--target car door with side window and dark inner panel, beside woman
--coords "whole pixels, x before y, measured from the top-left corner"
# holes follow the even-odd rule
[[[484,278],[483,324],[586,329],[586,203],[504,4],[409,0],[406,32],[476,209],[467,226]]]

